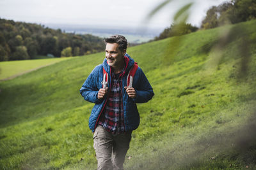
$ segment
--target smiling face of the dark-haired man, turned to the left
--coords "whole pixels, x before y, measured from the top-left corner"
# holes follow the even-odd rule
[[[112,67],[118,67],[124,62],[124,55],[126,50],[123,52],[118,48],[118,43],[107,43],[106,44],[106,59],[108,65]]]

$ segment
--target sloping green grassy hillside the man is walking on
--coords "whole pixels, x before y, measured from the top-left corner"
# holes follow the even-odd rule
[[[227,30],[236,36],[219,42]],[[155,96],[138,104],[126,169],[256,168],[255,30],[251,21],[128,48]],[[79,89],[103,59],[77,57],[0,82],[0,169],[97,168],[93,104]]]

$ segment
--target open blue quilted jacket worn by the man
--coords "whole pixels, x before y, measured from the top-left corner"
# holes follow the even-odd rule
[[[127,95],[124,87],[127,86],[127,75],[131,66],[134,64],[134,60],[128,55],[127,57],[127,67],[125,69],[125,74],[122,78],[122,96],[123,96],[123,106],[124,106],[124,123],[125,123],[125,131],[131,131],[137,129],[140,124],[140,115],[137,110],[136,103],[146,103],[154,96],[153,89],[150,83],[147,80],[147,77],[143,73],[140,67],[138,67],[134,77],[132,87],[136,90],[136,98],[132,99]],[[90,101],[95,103],[92,109],[92,113],[89,118],[89,127],[92,132],[95,131],[97,126],[97,122],[99,120],[102,111],[104,110],[104,106],[106,105],[106,101],[108,96],[105,96],[103,99],[98,99],[98,91],[102,88],[102,80],[103,80],[103,69],[109,75],[108,87],[111,87],[111,67],[108,65],[107,60],[104,59],[103,63],[99,66],[96,66],[92,73],[88,76],[88,78],[84,81],[83,86],[80,89],[81,95],[84,97],[86,101]],[[109,89],[108,89],[109,90]]]

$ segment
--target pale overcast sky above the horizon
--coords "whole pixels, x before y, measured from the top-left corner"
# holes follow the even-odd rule
[[[206,11],[225,0],[172,0],[148,22],[145,18],[165,0],[0,0],[0,18],[36,24],[100,27],[166,28],[179,8],[193,2],[188,22],[200,26]],[[182,2],[182,3],[181,3]]]

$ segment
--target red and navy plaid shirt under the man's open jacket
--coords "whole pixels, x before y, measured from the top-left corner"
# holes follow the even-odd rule
[[[121,73],[111,73],[111,88],[108,101],[99,119],[99,125],[102,125],[108,132],[113,134],[124,133],[124,107],[122,103],[122,75]]]

